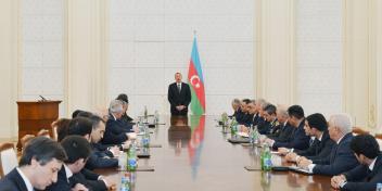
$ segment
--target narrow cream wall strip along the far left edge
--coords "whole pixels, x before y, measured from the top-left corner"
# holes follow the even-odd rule
[[[18,1],[0,4],[0,138],[16,136]]]

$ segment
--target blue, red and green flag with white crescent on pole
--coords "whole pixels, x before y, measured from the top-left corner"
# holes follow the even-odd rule
[[[196,37],[193,39],[188,79],[191,89],[191,111],[194,115],[203,115],[205,113],[204,79]]]

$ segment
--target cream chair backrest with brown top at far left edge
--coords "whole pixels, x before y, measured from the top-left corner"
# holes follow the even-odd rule
[[[4,177],[17,166],[17,154],[13,143],[0,144],[0,176]]]

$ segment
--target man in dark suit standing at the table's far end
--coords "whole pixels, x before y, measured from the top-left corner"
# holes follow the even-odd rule
[[[180,73],[175,73],[175,82],[168,86],[167,99],[171,105],[171,115],[187,115],[191,90],[189,85],[181,81]]]

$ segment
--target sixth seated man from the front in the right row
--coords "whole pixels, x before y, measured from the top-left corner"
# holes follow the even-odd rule
[[[279,125],[276,115],[276,106],[269,103],[265,106],[263,115],[265,123],[258,125],[257,130],[260,135],[269,135],[271,130]]]

